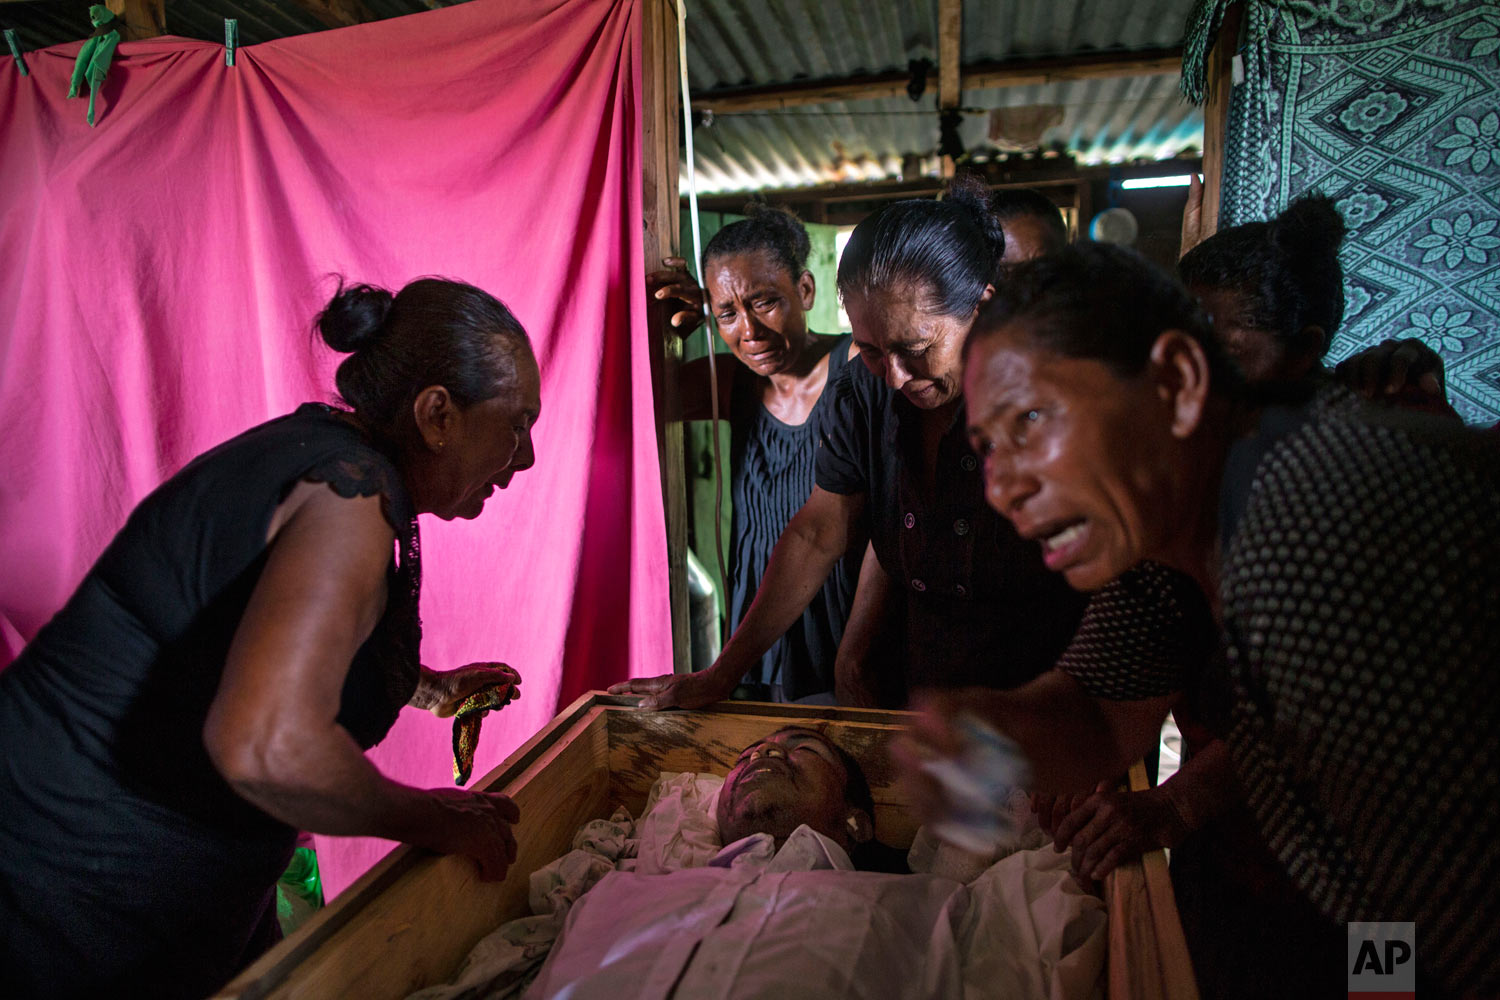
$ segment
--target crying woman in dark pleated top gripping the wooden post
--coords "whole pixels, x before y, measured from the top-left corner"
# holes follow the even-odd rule
[[[746,211],[748,219],[724,226],[704,249],[708,306],[738,361],[718,366],[718,408],[730,435],[730,630],[748,610],[782,529],[813,492],[818,429],[828,408],[825,388],[852,355],[848,336],[807,328],[818,294],[807,270],[807,229],[778,208],[752,204]],[[648,286],[657,298],[687,306],[672,321],[690,328],[702,318],[704,289],[680,259],[668,264],[675,267],[650,274]],[[682,366],[680,382],[682,417],[712,417],[706,358]],[[786,633],[747,661],[720,697],[741,679],[766,700],[830,696],[862,552],[862,540],[856,540],[834,561]],[[616,687],[639,690],[640,684]]]

